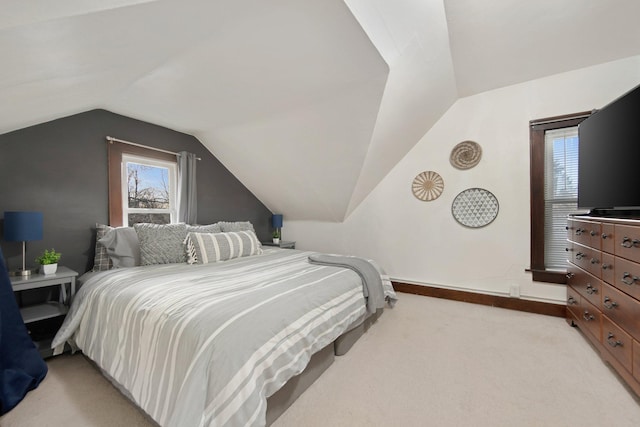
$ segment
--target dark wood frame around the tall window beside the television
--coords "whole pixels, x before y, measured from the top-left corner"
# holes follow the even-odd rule
[[[591,111],[547,117],[529,122],[531,260],[528,271],[536,282],[566,284],[566,272],[547,270],[544,262],[544,168],[545,132],[579,125]]]

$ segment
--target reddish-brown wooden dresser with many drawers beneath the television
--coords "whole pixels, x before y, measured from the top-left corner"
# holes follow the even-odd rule
[[[640,220],[567,225],[567,320],[640,396]]]

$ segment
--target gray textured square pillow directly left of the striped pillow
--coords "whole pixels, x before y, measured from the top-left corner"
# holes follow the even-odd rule
[[[134,224],[140,241],[140,265],[176,264],[187,260],[185,224]]]

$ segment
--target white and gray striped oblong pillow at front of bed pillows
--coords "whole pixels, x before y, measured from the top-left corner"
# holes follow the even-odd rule
[[[262,253],[262,246],[253,231],[229,233],[187,234],[187,262],[208,264]]]

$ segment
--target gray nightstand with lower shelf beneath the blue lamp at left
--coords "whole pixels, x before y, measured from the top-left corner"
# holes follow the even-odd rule
[[[20,314],[22,320],[27,329],[30,330],[30,324],[40,322],[47,319],[53,319],[59,316],[64,316],[69,310],[69,305],[76,293],[76,277],[78,272],[67,267],[58,266],[58,270],[54,274],[31,274],[30,276],[13,276],[11,277],[11,287],[14,293],[27,291],[29,289],[41,289],[41,288],[60,288],[60,294],[58,301],[50,301],[51,295],[48,297],[48,301],[41,304],[34,304],[25,307],[20,307]],[[50,347],[50,339],[39,339],[40,337],[34,337],[36,346],[40,350],[42,357],[49,357],[52,354]]]

